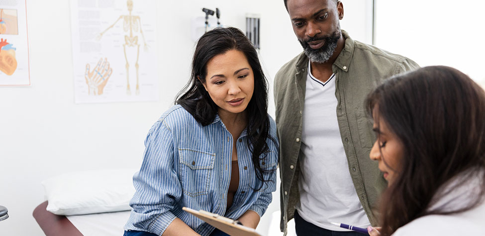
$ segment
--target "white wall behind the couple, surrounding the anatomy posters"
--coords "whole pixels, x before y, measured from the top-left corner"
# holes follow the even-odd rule
[[[342,28],[369,42],[367,3],[344,3]],[[0,235],[43,235],[32,217],[44,201],[43,179],[140,165],[148,129],[190,76],[191,20],[202,7],[219,7],[223,24],[242,29],[246,13],[261,14],[260,54],[270,87],[301,51],[282,0],[160,0],[156,7],[160,101],[75,105],[69,1],[27,0],[32,85],[0,87],[0,205],[10,216],[0,222]],[[269,97],[274,114],[272,91]],[[279,193],[274,196],[269,212],[279,210]]]

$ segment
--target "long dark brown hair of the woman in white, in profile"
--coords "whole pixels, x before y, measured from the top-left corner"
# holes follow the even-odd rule
[[[382,235],[416,218],[464,212],[484,201],[485,94],[477,83],[450,67],[425,67],[387,80],[369,94],[366,106],[371,115],[377,109],[374,122],[382,119],[404,149],[397,177],[381,199]],[[440,186],[477,177],[478,194],[468,193],[469,204],[429,209],[453,191]]]

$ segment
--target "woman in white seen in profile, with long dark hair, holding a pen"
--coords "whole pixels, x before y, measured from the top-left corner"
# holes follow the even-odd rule
[[[388,180],[377,235],[485,234],[485,93],[449,67],[387,80],[367,99]]]

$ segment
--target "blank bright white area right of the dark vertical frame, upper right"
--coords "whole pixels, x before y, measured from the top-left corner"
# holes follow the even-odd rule
[[[484,8],[479,0],[376,0],[376,45],[485,85]]]

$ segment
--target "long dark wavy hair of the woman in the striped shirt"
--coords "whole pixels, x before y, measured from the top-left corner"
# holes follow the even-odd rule
[[[259,62],[258,53],[244,33],[237,28],[215,28],[206,32],[197,42],[194,59],[192,61],[192,75],[187,85],[179,92],[176,104],[182,105],[195,120],[206,126],[212,123],[218,111],[218,106],[212,101],[203,83],[207,76],[207,63],[213,57],[224,54],[229,50],[242,52],[254,73],[254,91],[246,108],[248,114],[248,147],[253,155],[252,160],[256,176],[262,183],[269,180],[264,175],[275,171],[263,169],[260,161],[268,156],[270,120],[268,118],[268,84]],[[256,188],[261,189],[262,186]]]

